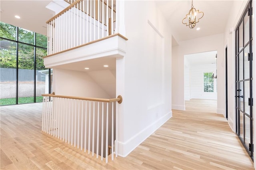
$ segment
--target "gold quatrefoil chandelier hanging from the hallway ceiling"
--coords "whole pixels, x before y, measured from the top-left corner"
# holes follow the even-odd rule
[[[199,22],[201,18],[203,18],[204,12],[199,12],[199,10],[196,10],[193,6],[193,0],[191,4],[191,9],[189,10],[188,14],[186,14],[186,17],[183,18],[182,24],[186,24],[189,28],[194,28],[196,26],[196,23]]]

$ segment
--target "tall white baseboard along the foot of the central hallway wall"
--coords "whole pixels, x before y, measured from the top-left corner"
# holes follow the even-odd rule
[[[159,127],[161,127],[166,121],[172,117],[172,111],[162,116],[158,121],[152,123],[148,127],[144,128],[132,138],[126,142],[118,142],[118,156],[126,157],[132,152],[137,146],[139,146],[146,138],[154,133]]]

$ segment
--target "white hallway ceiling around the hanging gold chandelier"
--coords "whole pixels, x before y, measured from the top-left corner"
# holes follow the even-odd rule
[[[204,12],[204,17],[196,23],[196,28],[201,28],[197,31],[182,24],[191,8],[191,0],[156,0],[177,42],[223,33],[233,3],[234,0],[193,0],[194,8]]]

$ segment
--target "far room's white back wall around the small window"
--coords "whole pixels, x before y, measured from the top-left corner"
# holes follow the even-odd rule
[[[216,64],[190,66],[190,99],[217,99],[216,79],[214,79],[214,92],[204,92],[204,73],[214,72]]]

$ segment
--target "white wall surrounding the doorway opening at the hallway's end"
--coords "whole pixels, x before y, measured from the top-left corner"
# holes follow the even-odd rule
[[[191,45],[193,44],[193,45]],[[225,65],[223,34],[216,34],[179,42],[172,48],[172,108],[185,109],[184,103],[184,55],[217,50],[218,53],[218,93],[217,113],[225,111]]]

